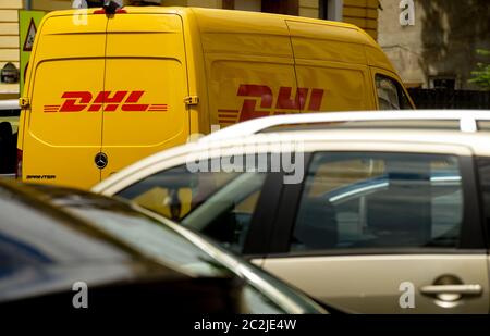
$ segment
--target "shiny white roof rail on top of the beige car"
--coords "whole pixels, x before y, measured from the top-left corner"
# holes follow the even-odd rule
[[[477,132],[479,121],[490,121],[490,111],[476,110],[409,110],[409,111],[365,111],[365,112],[317,112],[297,113],[287,115],[273,115],[253,119],[203,137],[201,141],[215,141],[228,138],[244,137],[268,129],[283,127],[294,129],[308,125],[308,129],[329,129],[339,126],[339,123],[366,122],[364,128],[392,127],[387,122],[397,122],[395,128],[455,128],[461,132]],[[420,122],[417,124],[415,122]],[[431,123],[432,122],[432,123]],[[439,122],[439,124],[434,123]],[[443,123],[449,122],[449,123]],[[450,123],[452,122],[452,126]],[[330,125],[328,123],[331,123]],[[274,128],[275,127],[275,128]],[[358,128],[363,128],[362,125]]]

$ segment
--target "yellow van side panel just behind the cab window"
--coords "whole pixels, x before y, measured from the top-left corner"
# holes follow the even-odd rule
[[[370,75],[366,39],[354,27],[287,21],[297,86],[305,90],[302,111],[369,110]]]

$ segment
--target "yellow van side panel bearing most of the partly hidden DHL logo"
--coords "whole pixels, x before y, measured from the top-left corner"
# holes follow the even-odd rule
[[[206,54],[211,125],[297,113],[293,59]]]

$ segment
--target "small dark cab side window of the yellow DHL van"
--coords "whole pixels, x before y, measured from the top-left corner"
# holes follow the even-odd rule
[[[399,82],[384,75],[377,74],[376,91],[380,110],[411,110],[408,97]]]

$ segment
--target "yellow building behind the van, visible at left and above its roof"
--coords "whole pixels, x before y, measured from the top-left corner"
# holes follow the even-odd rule
[[[378,0],[124,0],[124,3],[220,8],[343,21],[366,29],[375,39],[378,36]],[[19,10],[48,12],[71,7],[72,0],[1,0],[0,69],[9,62],[20,66]],[[19,84],[0,83],[0,99],[16,97]]]

